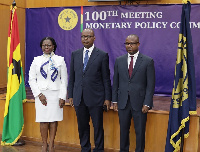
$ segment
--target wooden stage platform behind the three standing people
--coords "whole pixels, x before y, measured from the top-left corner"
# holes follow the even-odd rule
[[[22,139],[41,143],[39,123],[35,122],[35,104],[30,88],[26,88],[27,102],[24,103],[24,131]],[[0,89],[0,134],[3,128],[3,113],[6,90]],[[154,96],[154,107],[148,113],[145,152],[164,152],[171,97]],[[92,123],[90,122],[92,126]],[[130,129],[130,151],[135,149],[135,130],[133,121]],[[197,99],[197,115],[190,116],[190,136],[184,141],[184,152],[200,152],[200,99]],[[94,145],[93,127],[91,143]],[[119,119],[112,109],[104,112],[105,151],[119,151]],[[67,146],[80,150],[78,126],[74,108],[68,103],[64,106],[64,120],[58,123],[55,138],[57,146]],[[66,150],[67,151],[67,150]]]

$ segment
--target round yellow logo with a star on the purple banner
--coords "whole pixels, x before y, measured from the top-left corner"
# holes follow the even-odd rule
[[[78,22],[78,15],[73,9],[64,9],[58,16],[58,24],[63,30],[72,30]]]

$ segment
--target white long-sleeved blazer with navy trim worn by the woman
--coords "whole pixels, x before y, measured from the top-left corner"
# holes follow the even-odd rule
[[[40,67],[44,61],[48,60],[43,55],[34,57],[34,60],[29,70],[29,85],[33,92],[34,97],[37,97],[41,90],[59,90],[59,98],[66,100],[67,96],[67,85],[68,85],[68,74],[67,67],[64,61],[64,57],[53,55],[51,57],[55,67],[58,69],[58,76],[53,82],[51,80],[51,74],[49,64],[46,65],[47,78],[45,79],[40,73]]]

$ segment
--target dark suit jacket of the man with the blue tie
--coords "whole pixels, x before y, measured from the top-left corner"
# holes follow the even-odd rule
[[[87,106],[103,106],[112,98],[108,53],[94,47],[83,72],[83,48],[72,52],[68,97],[78,106],[83,96]]]

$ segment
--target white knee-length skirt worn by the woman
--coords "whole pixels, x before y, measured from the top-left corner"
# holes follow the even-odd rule
[[[47,98],[47,105],[43,105],[39,97],[35,98],[36,122],[54,122],[63,120],[63,108],[59,106],[59,90],[42,90]]]

